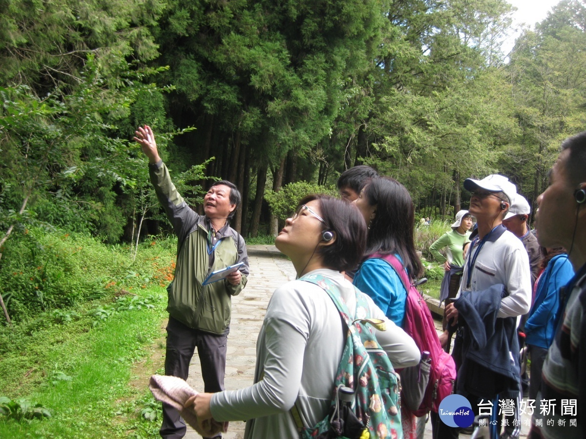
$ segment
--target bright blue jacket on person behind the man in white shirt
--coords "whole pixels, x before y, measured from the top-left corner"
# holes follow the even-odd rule
[[[574,267],[568,255],[557,255],[548,262],[539,278],[533,306],[525,323],[525,342],[548,349],[556,333],[560,312],[560,288],[570,282]]]

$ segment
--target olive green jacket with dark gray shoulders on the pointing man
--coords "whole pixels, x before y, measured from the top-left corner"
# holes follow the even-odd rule
[[[175,278],[167,288],[167,311],[190,328],[226,334],[230,325],[231,296],[242,291],[249,273],[246,243],[233,228],[227,227],[214,250],[214,263],[210,267],[206,217],[185,203],[162,161],[149,165],[149,174],[159,203],[178,236]],[[224,279],[202,286],[210,272],[238,262],[244,262],[240,267],[240,284],[231,285]]]

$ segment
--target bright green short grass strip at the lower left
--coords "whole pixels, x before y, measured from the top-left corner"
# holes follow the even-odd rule
[[[132,366],[148,358],[151,344],[156,347],[161,338],[165,294],[161,287],[149,287],[134,297],[135,303],[154,307],[121,309],[96,320],[97,304],[88,304],[76,311],[81,317],[73,322],[4,328],[3,341],[10,336],[12,344],[4,346],[0,360],[0,395],[42,404],[52,417],[15,421],[0,416],[0,437],[155,437],[158,422],[141,419],[152,397],[146,387],[137,389],[130,382]]]

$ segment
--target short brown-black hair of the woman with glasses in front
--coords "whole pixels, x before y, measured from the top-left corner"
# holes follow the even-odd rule
[[[331,245],[319,246],[316,252],[322,257],[323,265],[333,270],[354,270],[364,253],[366,224],[355,205],[325,194],[308,195],[299,201],[298,207],[317,200],[324,230],[336,236]]]

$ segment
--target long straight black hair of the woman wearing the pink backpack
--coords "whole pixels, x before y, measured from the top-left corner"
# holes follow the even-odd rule
[[[411,277],[423,274],[423,265],[415,251],[415,206],[403,184],[390,177],[372,179],[364,189],[376,215],[370,222],[366,255],[397,253]]]

